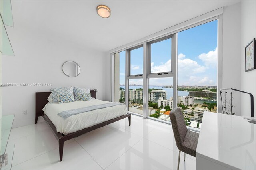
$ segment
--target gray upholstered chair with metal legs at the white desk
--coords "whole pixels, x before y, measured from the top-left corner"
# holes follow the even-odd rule
[[[180,151],[184,152],[184,161],[186,153],[196,157],[196,146],[198,142],[199,133],[192,132],[187,129],[182,111],[179,107],[172,109],[170,112],[170,119],[172,122],[172,130],[176,145],[179,149],[178,168],[180,165]]]

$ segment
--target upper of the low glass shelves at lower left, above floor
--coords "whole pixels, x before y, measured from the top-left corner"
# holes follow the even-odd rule
[[[6,146],[12,129],[12,123],[14,120],[14,115],[2,116],[1,122],[1,149],[0,155],[4,154],[6,151]]]

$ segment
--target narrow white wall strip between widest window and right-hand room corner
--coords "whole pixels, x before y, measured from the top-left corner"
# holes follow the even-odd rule
[[[241,3],[232,6],[224,7],[223,9],[223,67],[222,67],[222,87],[241,89]],[[227,91],[227,101],[230,103],[230,92]],[[239,92],[233,93],[232,113],[241,115],[241,94]],[[224,95],[223,95],[224,97]],[[220,102],[220,99],[219,99]],[[219,105],[220,106],[220,105]],[[227,108],[230,105],[227,104]]]

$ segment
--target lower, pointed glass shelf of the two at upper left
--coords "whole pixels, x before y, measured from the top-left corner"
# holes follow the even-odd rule
[[[1,16],[1,14],[0,14]],[[0,20],[0,44],[1,44],[1,48],[0,51],[3,55],[11,55],[14,56],[14,52],[12,50],[12,45],[10,43],[8,34],[6,32],[5,26],[4,26],[4,22],[2,20],[2,16],[1,16],[1,20]]]

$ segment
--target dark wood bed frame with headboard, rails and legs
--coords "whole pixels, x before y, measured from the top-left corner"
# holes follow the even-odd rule
[[[63,157],[63,146],[64,146],[64,142],[66,140],[70,140],[72,138],[78,137],[84,133],[90,132],[92,130],[95,130],[97,128],[100,127],[104,127],[105,125],[108,125],[110,123],[119,121],[121,119],[124,119],[126,117],[128,117],[129,120],[129,126],[131,125],[131,114],[127,113],[126,115],[122,115],[120,117],[116,117],[114,119],[110,119],[108,121],[99,123],[97,125],[94,125],[92,127],[88,127],[67,135],[64,135],[60,132],[57,132],[56,127],[54,126],[54,124],[52,123],[52,121],[49,119],[49,117],[44,114],[44,112],[42,111],[42,109],[44,108],[44,106],[48,103],[47,98],[49,97],[51,92],[37,92],[36,93],[36,119],[35,119],[35,124],[37,123],[38,117],[42,116],[44,118],[44,120],[46,121],[46,123],[48,124],[48,126],[50,127],[50,129],[52,130],[52,133],[54,134],[55,138],[58,140],[59,143],[59,152],[60,152],[60,161],[62,161],[62,157]],[[90,91],[91,96],[94,97],[96,99],[96,91],[91,90]]]

